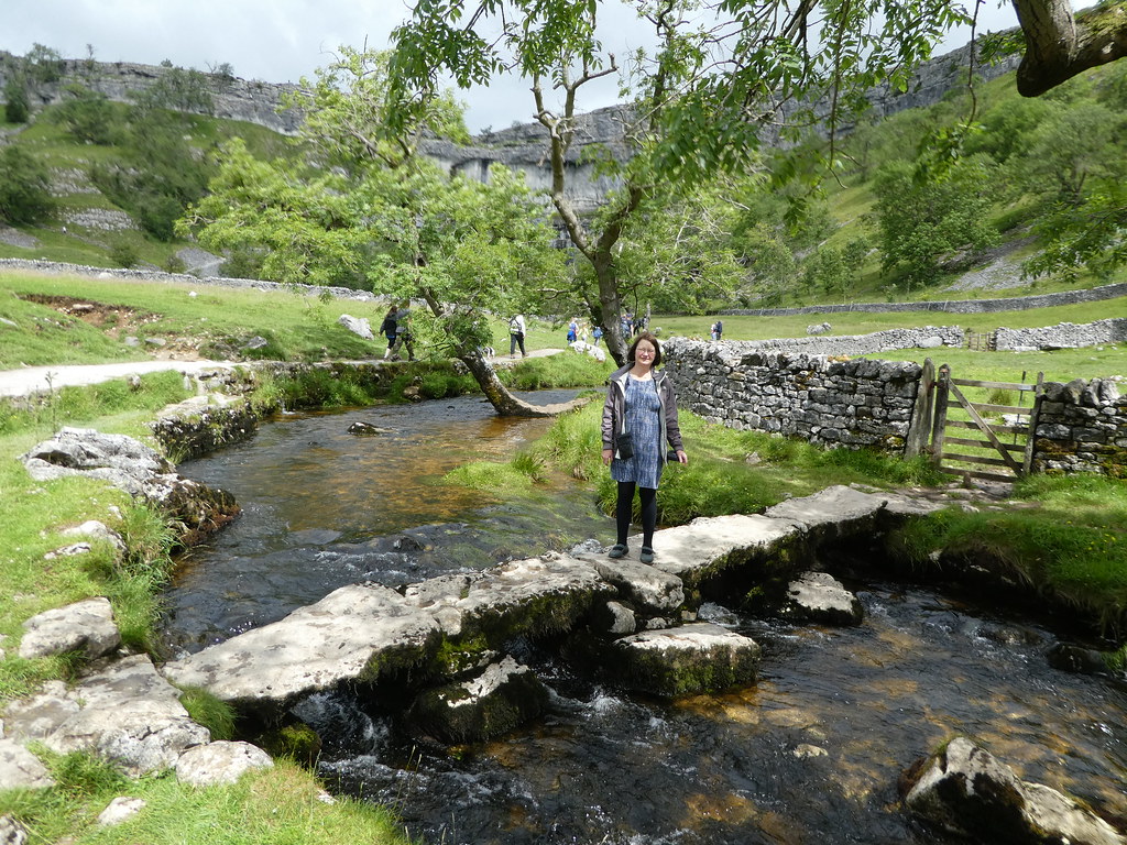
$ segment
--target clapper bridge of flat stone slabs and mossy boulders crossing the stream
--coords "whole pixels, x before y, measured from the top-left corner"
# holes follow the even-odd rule
[[[869,548],[890,521],[948,504],[832,487],[764,515],[699,518],[659,531],[653,566],[612,561],[588,541],[569,554],[440,576],[402,593],[350,585],[169,662],[162,673],[267,721],[284,718],[307,695],[341,686],[364,686],[400,706],[415,696],[408,714],[450,740],[498,733],[539,712],[539,682],[504,656],[505,643],[521,637],[559,635],[569,659],[589,657],[593,671],[623,688],[664,695],[729,688],[754,681],[760,649],[698,621],[704,598],[739,597],[773,584],[783,615],[857,623],[860,605],[840,584],[800,577],[818,550],[853,539]],[[638,537],[631,548],[640,548]],[[814,601],[805,598],[814,593]],[[416,694],[411,687],[420,677],[429,686]],[[485,703],[498,700],[505,703]]]

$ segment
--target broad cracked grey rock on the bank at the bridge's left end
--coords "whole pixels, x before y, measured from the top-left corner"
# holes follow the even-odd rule
[[[38,739],[59,754],[96,751],[131,777],[168,768],[211,738],[145,655],[118,660],[71,690],[45,685],[8,706],[5,727],[12,739]]]

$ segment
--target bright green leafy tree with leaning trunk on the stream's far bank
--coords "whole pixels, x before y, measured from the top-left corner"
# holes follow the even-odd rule
[[[567,273],[543,202],[504,167],[482,184],[447,178],[415,154],[424,128],[456,133],[453,98],[405,133],[388,133],[385,66],[384,54],[341,48],[316,82],[302,80],[293,104],[305,115],[308,161],[258,161],[236,140],[180,229],[212,249],[260,249],[266,278],[361,276],[373,292],[421,301],[443,352],[467,366],[499,415],[556,412],[513,397],[481,352],[492,343],[491,313],[529,310],[542,285]]]

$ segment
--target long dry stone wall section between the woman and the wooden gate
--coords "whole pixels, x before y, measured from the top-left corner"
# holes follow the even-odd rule
[[[911,362],[833,361],[673,339],[663,358],[681,408],[712,422],[822,446],[902,452],[920,388]]]

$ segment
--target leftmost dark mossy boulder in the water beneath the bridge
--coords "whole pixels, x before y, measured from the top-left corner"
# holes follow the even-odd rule
[[[527,666],[505,656],[474,677],[420,693],[407,712],[416,729],[447,742],[477,742],[543,712],[548,690]]]

